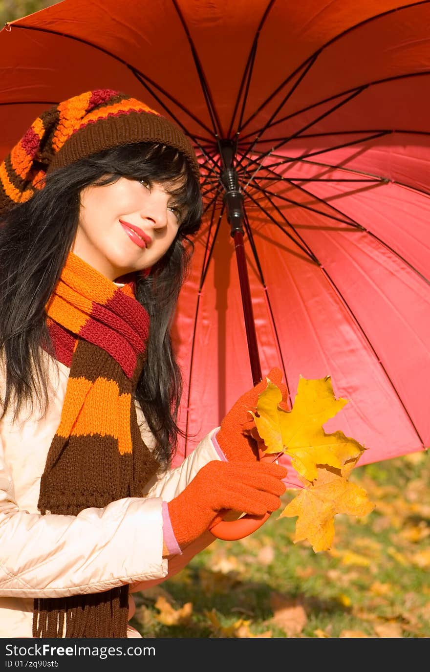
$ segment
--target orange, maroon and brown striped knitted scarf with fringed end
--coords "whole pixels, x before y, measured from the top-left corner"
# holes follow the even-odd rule
[[[46,312],[56,359],[71,371],[38,508],[77,515],[140,497],[159,463],[142,441],[134,406],[149,329],[134,283],[118,288],[69,253]],[[126,637],[127,622],[128,585],[34,600],[34,637]]]

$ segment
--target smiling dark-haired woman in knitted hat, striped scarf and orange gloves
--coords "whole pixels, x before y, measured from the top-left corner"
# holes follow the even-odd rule
[[[242,433],[263,382],[171,468],[198,161],[100,89],[41,114],[0,179],[0,635],[140,636],[131,593],[210,544],[220,512],[275,511],[285,491]]]

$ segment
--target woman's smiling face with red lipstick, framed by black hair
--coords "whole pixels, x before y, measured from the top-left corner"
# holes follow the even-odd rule
[[[120,177],[85,187],[72,251],[110,280],[153,266],[181,223],[168,186]]]

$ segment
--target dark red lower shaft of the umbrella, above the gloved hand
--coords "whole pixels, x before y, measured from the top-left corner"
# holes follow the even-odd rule
[[[247,331],[249,362],[251,363],[251,374],[253,384],[257,385],[261,381],[261,366],[257,345],[257,333],[255,332],[255,321],[253,314],[253,304],[251,302],[251,291],[249,289],[249,276],[247,269],[247,259],[243,247],[243,231],[236,230],[232,236],[234,240],[234,249],[236,251],[237,268],[239,271],[239,282],[241,283],[243,315],[245,317],[245,329]]]

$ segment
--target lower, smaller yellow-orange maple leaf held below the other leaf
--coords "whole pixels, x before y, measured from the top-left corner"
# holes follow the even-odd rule
[[[317,477],[286,505],[278,516],[298,516],[296,542],[307,539],[315,552],[329,550],[337,513],[362,516],[373,511],[366,491],[335,470],[318,467]]]

